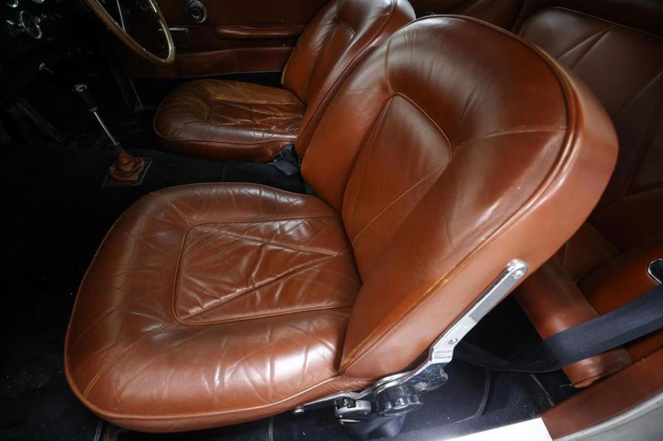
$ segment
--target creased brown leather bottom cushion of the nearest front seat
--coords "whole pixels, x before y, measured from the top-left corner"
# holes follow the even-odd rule
[[[68,380],[102,417],[154,431],[356,389],[338,362],[360,283],[340,216],[317,197],[247,184],[151,193],[81,284]]]

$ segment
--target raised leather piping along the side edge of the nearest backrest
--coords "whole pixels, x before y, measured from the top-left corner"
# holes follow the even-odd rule
[[[567,109],[568,132],[564,141],[562,142],[562,148],[560,149],[561,151],[559,152],[559,155],[555,160],[555,164],[553,164],[553,166],[548,171],[547,176],[543,179],[543,181],[539,185],[539,188],[537,188],[532,193],[532,195],[528,198],[528,200],[524,202],[523,205],[518,210],[516,210],[516,212],[512,216],[506,219],[506,221],[503,222],[501,226],[498,226],[495,229],[495,231],[490,235],[490,237],[487,237],[481,244],[475,247],[472,250],[472,252],[463,260],[461,260],[461,262],[459,262],[459,264],[457,264],[457,266],[453,268],[447,275],[440,277],[434,284],[432,284],[432,286],[430,286],[430,288],[428,288],[422,295],[420,295],[419,298],[414,299],[412,304],[399,317],[399,319],[396,320],[396,322],[392,323],[390,326],[387,326],[386,329],[380,329],[380,326],[378,325],[378,327],[374,329],[371,333],[369,333],[369,335],[364,337],[361,340],[361,342],[356,344],[356,346],[354,346],[354,348],[350,350],[345,357],[343,357],[343,360],[341,361],[339,366],[339,370],[341,372],[350,369],[353,366],[353,364],[357,362],[357,360],[359,360],[361,356],[366,355],[367,353],[370,353],[373,349],[375,349],[376,346],[378,346],[378,344],[383,342],[388,336],[390,336],[394,332],[394,330],[398,327],[399,324],[401,324],[401,322],[403,322],[403,320],[405,320],[405,318],[412,316],[419,308],[423,307],[422,306],[423,303],[425,302],[425,300],[427,300],[428,297],[432,295],[432,293],[439,290],[440,288],[443,288],[443,286],[445,286],[445,284],[447,284],[449,280],[451,280],[458,273],[460,273],[463,270],[463,268],[468,266],[470,262],[472,262],[472,259],[474,259],[474,257],[476,257],[476,255],[481,251],[481,249],[485,248],[488,244],[493,242],[504,231],[506,231],[506,229],[509,226],[511,226],[512,224],[516,224],[523,217],[528,215],[532,206],[535,206],[537,202],[539,202],[539,200],[541,200],[544,197],[544,195],[546,195],[550,187],[557,184],[561,171],[564,170],[564,168],[566,168],[568,161],[572,160],[574,156],[573,146],[575,146],[576,139],[578,136],[577,96],[575,95],[573,87],[570,85],[568,79],[564,75],[564,70],[559,66],[559,64],[552,57],[547,55],[546,52],[539,49],[534,44],[526,41],[519,35],[512,34],[507,30],[503,30],[502,28],[494,26],[490,23],[480,21],[478,19],[474,19],[472,17],[463,17],[458,15],[427,16],[427,17],[421,17],[416,21],[431,19],[435,17],[473,21],[474,23],[477,23],[480,26],[486,26],[488,28],[492,28],[493,30],[497,30],[497,32],[503,34],[505,37],[519,41],[520,43],[523,44],[523,46],[534,52],[535,55],[538,55],[539,58],[546,63],[548,68],[550,68],[553,75],[555,75],[555,78],[557,79],[557,82],[559,83],[561,91],[564,95],[564,99],[566,101],[566,109]],[[471,306],[472,304],[468,305],[465,311],[467,311]],[[378,333],[381,333],[382,335],[378,337],[374,342],[369,343],[369,341],[373,340],[373,337],[375,337]]]

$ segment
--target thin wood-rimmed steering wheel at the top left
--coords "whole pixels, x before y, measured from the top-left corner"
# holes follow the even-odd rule
[[[124,26],[115,21],[113,16],[108,13],[106,8],[104,8],[99,0],[84,1],[86,5],[92,10],[92,12],[94,12],[95,15],[97,15],[97,17],[99,17],[99,19],[104,22],[106,28],[111,30],[111,32],[115,34],[115,37],[120,39],[120,41],[122,41],[122,43],[124,43],[129,49],[133,50],[133,52],[136,52],[144,59],[160,66],[167,66],[175,61],[175,43],[173,43],[173,36],[171,35],[171,31],[168,28],[166,19],[164,19],[164,16],[161,13],[161,10],[159,9],[159,6],[155,0],[145,0],[145,3],[148,6],[147,12],[152,14],[153,17],[157,20],[161,30],[164,32],[164,37],[166,37],[166,48],[168,49],[168,55],[166,55],[165,58],[155,55],[153,52],[147,50],[140,43],[135,41],[135,39],[133,39],[133,37],[131,37],[131,35],[126,32]],[[119,13],[122,14],[122,11],[119,11]]]

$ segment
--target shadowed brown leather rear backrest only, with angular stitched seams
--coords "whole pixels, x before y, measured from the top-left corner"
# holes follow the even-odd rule
[[[563,8],[532,14],[520,34],[573,70],[615,124],[619,158],[592,224],[622,251],[660,233],[663,38]]]

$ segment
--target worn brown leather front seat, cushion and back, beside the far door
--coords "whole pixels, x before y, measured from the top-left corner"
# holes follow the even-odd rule
[[[164,99],[155,133],[165,148],[186,155],[269,161],[287,144],[307,141],[349,72],[412,20],[407,0],[332,0],[300,37],[283,88],[191,81]]]

